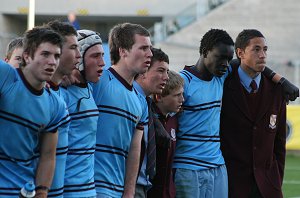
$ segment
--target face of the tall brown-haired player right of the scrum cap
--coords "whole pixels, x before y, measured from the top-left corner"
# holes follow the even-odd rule
[[[134,35],[134,44],[130,50],[121,49],[126,65],[133,74],[145,73],[151,63],[151,41],[148,36]]]

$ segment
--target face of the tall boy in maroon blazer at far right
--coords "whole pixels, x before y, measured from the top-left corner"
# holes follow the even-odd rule
[[[267,50],[268,46],[263,37],[252,38],[245,49],[237,48],[237,55],[241,59],[241,67],[250,77],[255,77],[264,71]]]

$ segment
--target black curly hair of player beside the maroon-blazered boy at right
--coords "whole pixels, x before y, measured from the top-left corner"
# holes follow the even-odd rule
[[[206,57],[207,52],[212,50],[220,43],[232,46],[234,45],[232,38],[226,31],[220,29],[209,30],[201,39],[199,48],[200,55],[204,55],[204,57]]]

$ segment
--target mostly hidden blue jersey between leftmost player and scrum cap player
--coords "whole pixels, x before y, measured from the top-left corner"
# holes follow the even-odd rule
[[[63,95],[59,86],[50,82],[51,89],[63,100]],[[58,141],[56,146],[56,162],[55,172],[52,180],[52,185],[48,192],[48,197],[63,197],[64,178],[68,152],[68,130],[69,123],[58,128]]]

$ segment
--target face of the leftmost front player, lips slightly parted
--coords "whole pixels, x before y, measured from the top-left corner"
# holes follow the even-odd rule
[[[41,43],[32,57],[24,52],[24,75],[26,74],[25,77],[31,86],[39,90],[44,82],[51,80],[59,64],[60,54],[60,47],[48,42]]]

